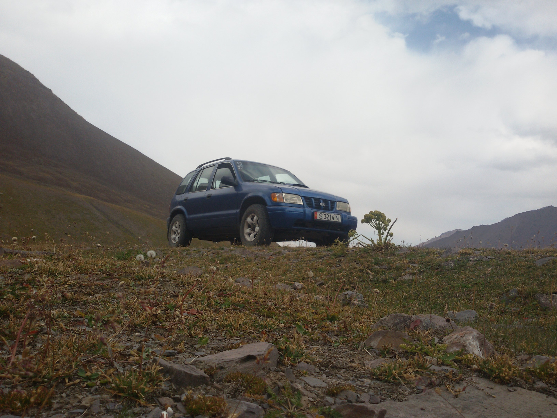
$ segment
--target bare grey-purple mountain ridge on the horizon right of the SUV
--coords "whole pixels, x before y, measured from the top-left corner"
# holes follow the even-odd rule
[[[546,206],[517,213],[492,225],[457,230],[449,236],[439,237],[433,241],[428,240],[423,246],[502,248],[505,244],[508,248],[517,250],[557,245],[557,207]]]

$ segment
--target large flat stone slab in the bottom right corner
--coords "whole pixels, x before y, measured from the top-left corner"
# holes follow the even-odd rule
[[[387,410],[387,418],[555,418],[557,414],[557,400],[543,393],[521,387],[509,392],[507,386],[477,376],[473,384],[480,390],[468,385],[456,398],[447,390],[437,393],[430,389],[410,395],[404,402],[387,401],[380,405]],[[455,387],[462,389],[465,385],[461,382]]]

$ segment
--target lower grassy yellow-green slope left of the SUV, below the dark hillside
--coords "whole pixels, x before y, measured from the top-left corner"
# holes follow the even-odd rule
[[[33,231],[31,231],[33,230]],[[145,213],[0,174],[0,246],[36,235],[60,244],[165,245],[166,223]]]

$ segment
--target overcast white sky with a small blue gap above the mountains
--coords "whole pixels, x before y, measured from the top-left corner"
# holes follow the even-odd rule
[[[0,54],[180,176],[275,164],[416,244],[557,203],[556,22],[555,0],[0,0]]]

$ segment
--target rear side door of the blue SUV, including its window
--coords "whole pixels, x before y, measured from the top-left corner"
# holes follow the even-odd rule
[[[205,196],[213,169],[214,166],[209,166],[201,169],[197,173],[196,178],[189,188],[188,200],[184,201],[184,207],[188,215],[185,222],[188,226],[188,230],[192,232],[204,230],[208,227],[208,218],[205,212]]]

